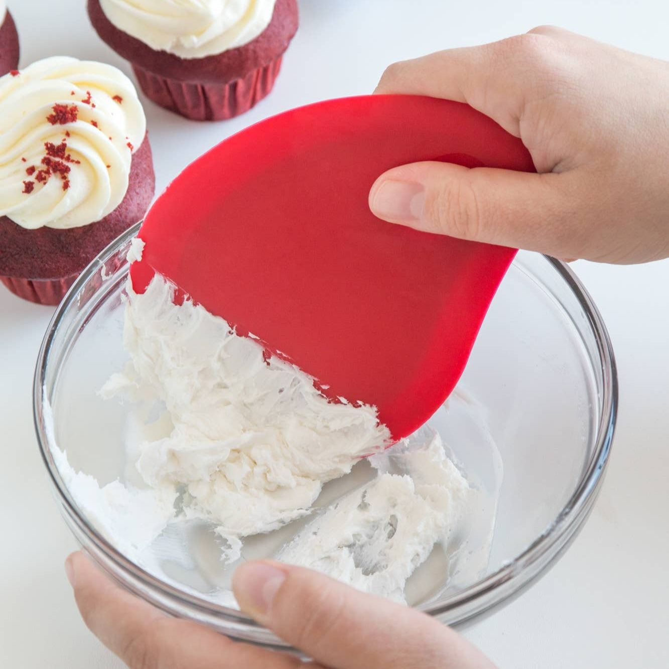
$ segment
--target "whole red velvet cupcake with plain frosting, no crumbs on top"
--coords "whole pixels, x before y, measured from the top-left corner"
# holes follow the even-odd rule
[[[194,120],[262,100],[298,27],[296,0],[88,0],[88,15],[151,100]]]

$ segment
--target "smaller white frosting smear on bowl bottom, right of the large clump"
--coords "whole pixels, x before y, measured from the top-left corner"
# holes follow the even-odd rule
[[[379,475],[307,524],[276,559],[404,603],[407,579],[436,543],[448,545],[474,491],[436,433],[421,448],[397,444],[373,458]]]

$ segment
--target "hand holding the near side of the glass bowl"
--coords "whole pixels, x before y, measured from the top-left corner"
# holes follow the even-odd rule
[[[298,658],[233,642],[163,615],[82,553],[66,562],[84,622],[130,669],[296,669]],[[268,561],[237,569],[242,610],[315,660],[313,669],[494,669],[456,632],[408,607],[308,569]]]

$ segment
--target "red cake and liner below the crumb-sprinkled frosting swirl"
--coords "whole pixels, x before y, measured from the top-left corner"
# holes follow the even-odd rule
[[[125,197],[100,221],[69,229],[31,230],[1,216],[0,280],[27,300],[58,304],[86,265],[144,217],[154,192],[151,145],[145,136],[132,155]]]

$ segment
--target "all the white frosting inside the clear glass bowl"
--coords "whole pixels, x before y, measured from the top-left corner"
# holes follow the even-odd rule
[[[128,258],[139,260],[143,246],[134,241]],[[130,282],[126,290],[130,363],[102,390],[137,401],[123,480],[100,487],[52,448],[75,502],[126,557],[179,587],[199,583],[196,594],[225,605],[233,600],[220,570],[233,569],[243,549],[246,559],[270,555],[395,601],[405,601],[405,587],[420,601],[435,584],[470,583],[485,569],[494,508],[486,514],[485,494],[434,427],[384,450],[389,434],[373,407],[329,403],[311,377],[266,359],[222,318],[175,304],[160,276],[144,294]],[[407,583],[423,563],[427,571]]]

